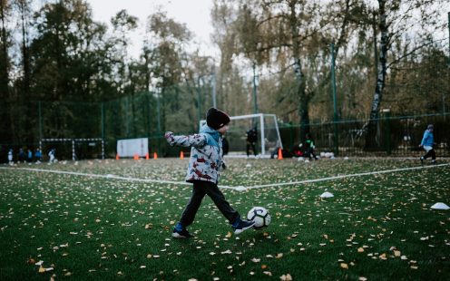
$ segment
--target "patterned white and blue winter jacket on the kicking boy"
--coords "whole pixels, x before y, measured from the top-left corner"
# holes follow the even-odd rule
[[[164,137],[171,146],[191,147],[186,181],[205,180],[218,183],[223,163],[222,137],[219,131],[204,125],[198,134],[175,136],[173,132],[168,131]]]

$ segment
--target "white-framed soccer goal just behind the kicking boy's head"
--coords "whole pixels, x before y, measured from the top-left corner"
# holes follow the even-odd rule
[[[279,148],[283,149],[279,135],[279,125],[275,114],[249,114],[230,117],[230,131],[226,139],[229,142],[230,156],[247,155],[247,131],[256,128],[256,150],[259,157],[268,157]],[[206,120],[200,121],[204,125]],[[253,151],[250,151],[253,155]]]

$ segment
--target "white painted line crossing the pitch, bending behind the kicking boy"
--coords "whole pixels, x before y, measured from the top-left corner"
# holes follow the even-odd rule
[[[377,174],[386,174],[386,173],[393,173],[393,172],[405,171],[405,170],[432,169],[432,168],[437,168],[437,167],[445,167],[445,166],[449,166],[449,165],[450,165],[450,163],[445,163],[445,164],[410,167],[410,168],[401,168],[401,169],[393,169],[393,170],[368,171],[368,172],[364,172],[364,173],[349,174],[349,175],[339,175],[339,176],[328,177],[328,178],[320,178],[320,179],[305,179],[305,180],[299,180],[299,181],[269,183],[269,184],[252,186],[252,187],[220,186],[219,188],[220,189],[238,189],[240,191],[245,190],[245,189],[278,188],[278,187],[283,187],[283,186],[299,185],[299,184],[319,182],[319,181],[328,181],[328,180],[335,180],[335,179],[345,179],[345,178],[363,177],[363,176],[377,175]],[[128,181],[147,182],[147,183],[165,183],[165,184],[174,184],[174,185],[191,185],[191,183],[185,182],[185,181],[127,178],[127,177],[120,177],[120,176],[115,176],[115,175],[111,175],[111,174],[99,175],[99,174],[88,174],[88,173],[80,173],[80,172],[64,171],[64,170],[44,170],[44,169],[32,169],[32,168],[6,168],[6,167],[0,167],[0,169],[3,169],[3,170],[30,170],[30,171],[36,171],[36,172],[48,172],[48,173],[54,173],[54,174],[65,174],[65,175],[83,176],[83,177],[92,177],[92,178],[102,178],[102,179],[120,179],[120,180],[128,180]]]

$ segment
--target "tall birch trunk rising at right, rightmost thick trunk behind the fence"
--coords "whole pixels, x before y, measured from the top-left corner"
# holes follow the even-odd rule
[[[387,24],[386,24],[386,0],[378,0],[379,4],[379,23],[378,27],[381,33],[380,47],[381,53],[377,63],[377,85],[370,110],[370,117],[365,131],[366,149],[373,150],[377,148],[377,123],[380,111],[383,90],[386,84],[386,55],[387,55]]]

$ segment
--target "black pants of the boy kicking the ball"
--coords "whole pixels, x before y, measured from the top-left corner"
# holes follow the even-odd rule
[[[231,208],[230,203],[225,199],[225,196],[223,196],[223,193],[216,184],[209,181],[196,180],[194,181],[194,186],[192,188],[191,199],[189,199],[188,205],[184,208],[181,215],[180,222],[184,228],[192,224],[195,215],[200,208],[201,200],[207,194],[230,223],[233,223],[237,218],[240,218],[238,211]]]

